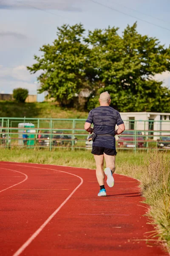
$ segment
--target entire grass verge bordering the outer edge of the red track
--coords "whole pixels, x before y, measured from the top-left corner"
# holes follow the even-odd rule
[[[148,217],[156,224],[149,239],[157,237],[166,241],[170,251],[170,161],[169,152],[150,151],[133,154],[118,151],[116,173],[141,181],[146,203],[150,205]],[[88,150],[58,149],[55,151],[33,149],[0,149],[1,161],[43,163],[95,169],[94,157]]]

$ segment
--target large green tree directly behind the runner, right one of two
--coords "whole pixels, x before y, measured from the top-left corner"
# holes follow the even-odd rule
[[[95,107],[96,96],[108,91],[112,106],[122,112],[170,111],[170,90],[154,79],[155,74],[170,70],[170,48],[156,38],[140,35],[136,23],[127,26],[122,37],[117,31],[109,27],[89,32],[101,86],[93,91],[88,105],[94,103]]]

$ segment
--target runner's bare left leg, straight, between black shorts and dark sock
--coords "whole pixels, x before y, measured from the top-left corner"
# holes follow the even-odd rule
[[[104,163],[104,155],[95,155],[94,154],[94,159],[96,161],[96,177],[97,181],[99,183],[99,186],[104,185],[104,179],[105,179],[105,174],[103,172],[103,163]]]

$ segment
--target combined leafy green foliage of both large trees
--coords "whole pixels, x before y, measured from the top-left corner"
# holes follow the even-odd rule
[[[99,94],[108,91],[119,111],[169,112],[170,90],[154,76],[170,71],[170,48],[140,35],[136,26],[127,26],[121,37],[115,27],[85,36],[82,24],[63,25],[28,70],[42,71],[40,92],[48,91],[61,105],[79,105],[86,94],[86,108],[91,109]]]

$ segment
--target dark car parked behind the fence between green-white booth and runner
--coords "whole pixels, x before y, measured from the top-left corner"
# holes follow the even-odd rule
[[[50,134],[49,131],[45,131],[44,134],[38,140],[40,146],[50,146]],[[77,143],[77,138],[74,136],[74,144]],[[72,135],[63,134],[61,131],[54,132],[52,134],[52,146],[72,145]]]

